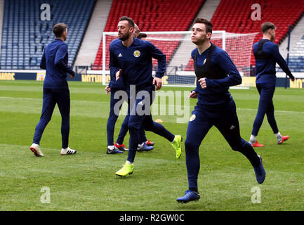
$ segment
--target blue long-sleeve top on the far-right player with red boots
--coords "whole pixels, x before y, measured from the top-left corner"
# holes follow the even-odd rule
[[[293,77],[291,74],[284,58],[279,53],[279,47],[277,44],[273,43],[268,39],[265,40],[263,44],[263,51],[268,56],[265,59],[257,59],[256,58],[256,83],[264,83],[264,82],[271,82],[275,84],[276,81],[276,70],[275,70],[275,63],[279,64],[282,70],[288,75],[289,77]],[[258,42],[253,44],[253,53],[255,54],[258,51]]]

